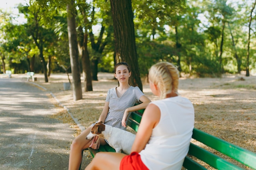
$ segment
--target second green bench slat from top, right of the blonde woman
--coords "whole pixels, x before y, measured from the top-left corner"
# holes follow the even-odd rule
[[[234,163],[231,163],[192,143],[189,146],[189,155],[197,157],[218,170],[243,170],[243,168],[236,166]]]

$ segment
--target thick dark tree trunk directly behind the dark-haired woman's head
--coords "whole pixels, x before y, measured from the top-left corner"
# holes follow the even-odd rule
[[[142,91],[131,0],[110,0],[110,5],[115,35],[116,62],[127,62],[130,65],[132,75],[129,83],[132,86],[138,86]]]

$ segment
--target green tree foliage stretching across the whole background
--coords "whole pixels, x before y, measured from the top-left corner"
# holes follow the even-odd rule
[[[0,10],[0,64],[4,61],[8,69],[23,73],[28,70],[27,61],[35,55],[35,70],[42,72],[38,47],[33,42],[37,31],[40,38],[36,42],[44,42],[43,57],[45,60],[49,57],[52,59],[53,71],[63,71],[61,65],[66,68],[70,66],[66,12],[69,2],[71,1],[30,0],[25,7],[19,5],[20,13],[27,18],[25,24],[14,24],[16,16]],[[141,75],[147,74],[148,68],[158,61],[180,64],[182,72],[200,77],[218,77],[220,68],[228,73],[237,73],[239,62],[240,69],[244,71],[248,16],[252,3],[252,0],[244,3],[227,3],[226,0],[133,0],[139,72]],[[77,27],[81,26],[83,31],[86,29],[88,33],[93,33],[95,44],[100,40],[97,45],[105,45],[103,51],[95,51],[92,49],[92,42],[88,42],[91,59],[99,59],[99,71],[112,72],[115,48],[109,1],[76,0],[75,5],[78,9]],[[204,22],[200,20],[202,16],[205,17]],[[255,16],[253,17],[255,21]],[[37,30],[36,24],[39,26]],[[224,44],[220,63],[223,24]],[[104,26],[102,39],[99,31],[92,30],[95,26]],[[251,32],[249,69],[255,73],[254,27]],[[89,40],[90,38],[92,37]]]

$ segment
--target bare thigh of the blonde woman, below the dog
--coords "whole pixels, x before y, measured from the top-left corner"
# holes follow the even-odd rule
[[[98,152],[85,170],[119,170],[120,162],[126,155],[116,152]]]

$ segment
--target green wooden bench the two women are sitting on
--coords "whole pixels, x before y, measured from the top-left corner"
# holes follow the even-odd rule
[[[141,121],[143,111],[144,110],[132,112],[130,118],[128,119],[128,126],[136,132],[139,128],[139,123]],[[256,153],[231,144],[225,140],[214,137],[196,128],[193,129],[192,138],[196,141],[199,141],[200,144],[204,144],[206,147],[202,148],[191,142],[189,146],[189,153],[185,157],[183,163],[184,169],[207,170],[206,167],[213,167],[217,170],[244,170],[245,168],[242,168],[244,166],[246,168],[250,167],[256,170]],[[89,148],[89,151],[92,157],[94,157],[97,152],[115,152],[115,150],[108,145],[100,146],[98,150]],[[228,156],[228,160],[227,158],[223,158],[226,156],[219,155]],[[239,163],[234,164],[232,163],[232,160]],[[206,163],[208,166],[203,166],[203,163]]]

